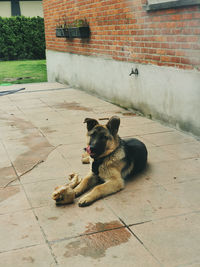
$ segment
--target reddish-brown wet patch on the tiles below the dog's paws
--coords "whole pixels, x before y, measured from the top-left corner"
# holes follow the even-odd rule
[[[108,227],[121,228],[105,231]],[[102,258],[105,257],[107,249],[126,243],[131,237],[131,233],[118,221],[89,224],[87,228],[84,232],[86,235],[65,246],[65,257],[81,255],[93,259]],[[91,230],[101,232],[87,235]]]

